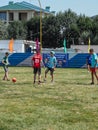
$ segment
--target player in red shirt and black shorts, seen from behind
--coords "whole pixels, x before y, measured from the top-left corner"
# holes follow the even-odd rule
[[[39,50],[36,50],[36,54],[33,55],[32,60],[32,67],[34,69],[34,84],[36,82],[36,75],[38,74],[38,82],[41,82],[41,63],[42,63],[42,56]]]

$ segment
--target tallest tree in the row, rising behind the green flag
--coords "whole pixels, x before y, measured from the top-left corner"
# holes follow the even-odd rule
[[[60,43],[63,46],[63,39],[66,38],[67,47],[70,47],[71,44],[74,43],[75,35],[77,32],[74,27],[77,27],[77,15],[72,12],[70,9],[65,11],[64,13],[60,12],[57,14],[58,23],[60,26]]]

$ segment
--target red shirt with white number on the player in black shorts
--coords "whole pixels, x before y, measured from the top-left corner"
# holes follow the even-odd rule
[[[32,57],[32,60],[33,60],[33,67],[39,68],[41,66],[42,56],[40,53],[35,54]]]

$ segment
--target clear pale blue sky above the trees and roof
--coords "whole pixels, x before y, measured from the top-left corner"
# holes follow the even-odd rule
[[[9,1],[30,2],[39,6],[38,0],[0,0],[0,7],[7,5]],[[71,9],[77,15],[85,14],[86,16],[98,15],[98,0],[40,0],[42,8],[50,6],[50,11],[56,13]]]

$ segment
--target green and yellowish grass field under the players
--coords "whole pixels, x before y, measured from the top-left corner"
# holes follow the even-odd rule
[[[0,130],[98,130],[98,85],[86,69],[56,69],[33,85],[30,67],[10,67],[3,81],[0,67]],[[42,79],[44,69],[42,70]]]

